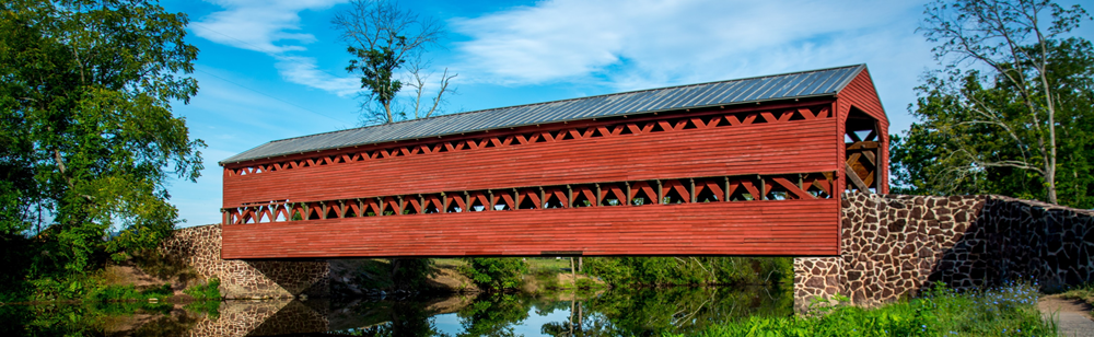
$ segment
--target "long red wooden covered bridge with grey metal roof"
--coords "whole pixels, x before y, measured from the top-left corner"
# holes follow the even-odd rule
[[[836,255],[887,127],[859,65],[277,140],[221,162],[222,255]]]

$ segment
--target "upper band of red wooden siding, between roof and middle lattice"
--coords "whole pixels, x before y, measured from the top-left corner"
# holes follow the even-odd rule
[[[831,117],[789,120],[228,174],[224,207],[284,199],[315,201],[610,181],[834,172],[841,163],[835,155],[841,144],[826,139],[830,139],[836,124]]]

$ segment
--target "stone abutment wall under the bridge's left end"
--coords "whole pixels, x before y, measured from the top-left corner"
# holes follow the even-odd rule
[[[193,267],[202,278],[220,279],[221,294],[229,299],[326,295],[330,267],[326,262],[251,262],[220,258],[220,224],[176,230],[160,251]]]

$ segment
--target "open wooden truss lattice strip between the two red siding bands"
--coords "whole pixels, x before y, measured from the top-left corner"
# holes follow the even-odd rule
[[[277,200],[222,211],[224,224],[244,224],[468,211],[828,199],[833,197],[834,177],[833,172],[821,172],[605,182],[303,202]]]

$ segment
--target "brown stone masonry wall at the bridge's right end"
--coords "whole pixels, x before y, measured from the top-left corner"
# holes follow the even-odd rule
[[[955,289],[1094,278],[1094,211],[1001,196],[845,195],[841,255],[794,259],[799,309],[848,295],[857,305]]]

